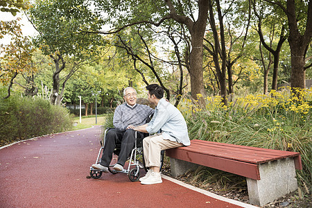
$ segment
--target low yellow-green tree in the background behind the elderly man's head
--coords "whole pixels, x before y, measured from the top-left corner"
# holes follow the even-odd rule
[[[121,52],[123,52],[121,50]],[[105,104],[110,107],[116,102],[123,101],[123,89],[130,84],[141,91],[142,82],[139,81],[139,74],[133,69],[132,63],[124,55],[119,53],[114,46],[107,47],[101,51],[101,58],[95,62],[90,62],[82,67],[82,70],[73,74],[64,92],[64,102],[74,104],[79,101],[78,96],[82,96],[82,101],[87,108],[94,106],[95,96],[98,94],[97,101],[101,103],[105,99]],[[104,102],[104,101],[103,101]],[[98,104],[96,103],[96,104]]]

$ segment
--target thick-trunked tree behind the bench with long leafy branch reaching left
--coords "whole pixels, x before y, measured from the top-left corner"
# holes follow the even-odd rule
[[[114,24],[117,33],[135,24],[160,26],[168,20],[170,24],[183,24],[191,36],[191,53],[189,54],[189,73],[191,77],[191,96],[205,94],[202,72],[202,45],[208,17],[208,1],[103,1],[97,0]],[[125,15],[127,12],[127,15]],[[197,20],[194,14],[198,16]],[[171,19],[171,21],[170,21]],[[173,20],[173,21],[172,21]],[[108,21],[107,21],[108,22]],[[96,32],[96,31],[93,31]],[[105,32],[101,32],[107,34]],[[202,99],[203,102],[203,99]]]

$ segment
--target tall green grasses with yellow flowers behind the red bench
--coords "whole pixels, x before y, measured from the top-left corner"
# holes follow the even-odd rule
[[[301,153],[297,180],[302,193],[311,187],[312,90],[248,95],[224,106],[220,97],[208,97],[205,109],[182,105],[191,139],[239,144]],[[186,101],[184,101],[186,102]]]

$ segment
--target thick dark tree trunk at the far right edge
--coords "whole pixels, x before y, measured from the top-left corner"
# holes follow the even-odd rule
[[[283,10],[288,19],[291,47],[291,87],[305,88],[305,56],[312,40],[312,1],[269,1]]]

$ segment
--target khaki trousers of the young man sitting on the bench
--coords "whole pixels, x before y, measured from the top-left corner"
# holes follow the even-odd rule
[[[143,148],[146,167],[160,166],[160,152],[162,150],[183,146],[182,143],[163,138],[162,134],[156,134],[144,138]]]

